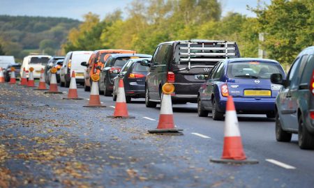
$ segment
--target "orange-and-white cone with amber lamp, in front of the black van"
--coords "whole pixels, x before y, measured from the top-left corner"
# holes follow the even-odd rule
[[[159,122],[156,130],[149,130],[149,133],[181,133],[175,129],[172,112],[171,93],[174,92],[173,84],[166,83],[163,85],[163,97],[161,100]]]

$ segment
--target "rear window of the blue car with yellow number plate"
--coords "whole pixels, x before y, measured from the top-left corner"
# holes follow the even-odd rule
[[[266,61],[237,61],[229,63],[227,68],[229,78],[270,79],[271,74],[274,73],[284,75],[283,69],[278,63]]]

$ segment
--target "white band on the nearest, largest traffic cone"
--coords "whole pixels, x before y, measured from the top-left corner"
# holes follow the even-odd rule
[[[241,136],[236,111],[225,113],[225,136]]]

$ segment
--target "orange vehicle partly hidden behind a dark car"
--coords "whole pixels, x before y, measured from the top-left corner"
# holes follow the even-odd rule
[[[136,54],[136,51],[126,49],[98,49],[94,51],[88,62],[81,63],[81,65],[87,67],[84,72],[84,91],[90,91],[91,75],[100,74],[100,71],[105,65],[105,61],[110,54]],[[96,69],[96,67],[98,68]]]

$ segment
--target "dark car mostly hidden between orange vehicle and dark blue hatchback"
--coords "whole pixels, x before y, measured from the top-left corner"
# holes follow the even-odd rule
[[[105,62],[103,70],[100,72],[98,81],[100,93],[111,96],[113,91],[113,79],[117,77],[121,68],[130,58],[151,58],[148,54],[110,54]]]

